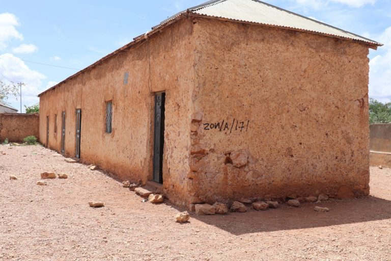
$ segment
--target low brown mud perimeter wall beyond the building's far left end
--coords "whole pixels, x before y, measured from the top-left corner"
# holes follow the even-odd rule
[[[0,113],[0,142],[22,142],[31,135],[39,139],[39,114]]]

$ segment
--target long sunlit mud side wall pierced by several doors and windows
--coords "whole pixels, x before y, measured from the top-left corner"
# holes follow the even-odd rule
[[[65,111],[65,154],[75,156],[75,113],[81,109],[81,161],[97,164],[123,180],[145,183],[152,179],[154,94],[165,91],[163,188],[174,203],[184,204],[194,82],[192,39],[191,21],[181,20],[42,94],[43,142],[49,116],[48,146],[60,151],[61,113]],[[110,100],[113,132],[106,134],[106,101]]]

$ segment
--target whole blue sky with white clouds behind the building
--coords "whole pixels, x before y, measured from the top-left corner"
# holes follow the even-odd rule
[[[39,101],[36,95],[40,92],[165,18],[205,1],[0,0],[0,78],[24,82],[22,105],[33,105]],[[384,43],[369,55],[369,95],[391,101],[391,1],[266,2]],[[13,97],[7,102],[20,108],[20,101]]]

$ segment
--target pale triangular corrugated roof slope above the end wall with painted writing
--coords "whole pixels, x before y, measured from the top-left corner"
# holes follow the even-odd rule
[[[254,22],[276,27],[298,29],[308,32],[339,36],[347,39],[381,46],[382,44],[356,34],[332,27],[323,22],[304,17],[290,11],[256,0],[220,0],[201,7],[189,9],[189,12],[237,21]]]

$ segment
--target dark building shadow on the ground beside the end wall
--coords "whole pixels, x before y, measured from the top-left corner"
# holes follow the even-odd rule
[[[316,212],[315,205],[328,207],[330,211]],[[391,201],[373,196],[349,200],[332,199],[318,204],[304,203],[298,208],[283,205],[275,210],[248,210],[247,213],[214,216],[193,214],[191,218],[231,234],[241,235],[391,219]]]

